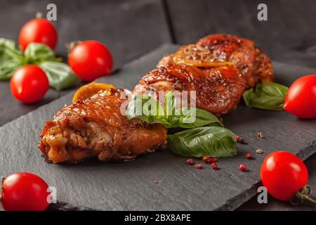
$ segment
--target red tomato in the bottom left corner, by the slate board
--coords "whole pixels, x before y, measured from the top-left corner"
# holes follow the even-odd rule
[[[16,173],[4,179],[2,207],[6,211],[44,211],[48,206],[48,185],[39,176]]]

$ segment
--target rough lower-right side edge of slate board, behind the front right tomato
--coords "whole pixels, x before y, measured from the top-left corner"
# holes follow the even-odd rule
[[[315,153],[316,148],[316,140],[312,141],[308,146],[300,150],[296,155],[301,158],[301,160],[307,160],[310,156]],[[259,186],[262,186],[261,181],[259,180],[256,184],[251,186],[248,190],[244,191],[244,193],[240,195],[236,195],[234,198],[230,198],[225,205],[222,207],[218,207],[217,211],[225,211],[225,210],[236,210],[238,207],[246,203],[248,200],[253,198],[257,194],[257,189]]]

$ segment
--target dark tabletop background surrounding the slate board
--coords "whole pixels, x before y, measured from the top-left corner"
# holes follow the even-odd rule
[[[316,68],[315,0],[0,0],[0,37],[17,40],[20,28],[35,13],[41,11],[46,15],[48,3],[57,6],[54,22],[59,34],[57,53],[64,58],[67,58],[65,44],[70,41],[96,39],[108,46],[114,67],[120,68],[164,43],[190,44],[207,34],[225,32],[254,40],[272,60]],[[268,21],[257,20],[260,3],[268,5]],[[11,96],[8,82],[0,82],[0,125],[68,91],[50,90],[39,103],[23,105]],[[313,156],[306,161],[314,188],[315,160]],[[254,198],[240,209],[312,210],[312,207],[291,207],[272,198],[268,205],[258,205]]]

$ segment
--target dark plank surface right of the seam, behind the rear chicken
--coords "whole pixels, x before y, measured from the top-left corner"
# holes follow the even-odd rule
[[[316,66],[314,0],[166,0],[177,44],[212,33],[254,40],[273,60]],[[268,6],[268,21],[258,21],[257,6]]]

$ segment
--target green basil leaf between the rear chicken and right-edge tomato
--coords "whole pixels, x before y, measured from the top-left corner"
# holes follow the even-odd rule
[[[283,110],[288,87],[277,83],[257,84],[255,88],[244,92],[244,102],[248,107],[263,110]]]

